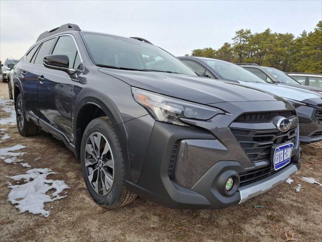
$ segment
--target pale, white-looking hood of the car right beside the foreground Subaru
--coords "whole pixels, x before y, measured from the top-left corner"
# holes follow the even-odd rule
[[[275,94],[283,98],[289,98],[300,102],[303,102],[304,100],[308,100],[308,99],[322,98],[322,95],[316,92],[312,92],[309,90],[305,90],[302,88],[297,88],[289,85],[286,86],[286,85],[276,85],[276,84],[257,83],[257,82],[241,82],[241,81],[239,81],[239,83],[270,92],[272,94]]]

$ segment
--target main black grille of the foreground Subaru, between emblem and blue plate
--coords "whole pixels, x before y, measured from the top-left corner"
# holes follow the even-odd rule
[[[282,144],[291,141],[295,145],[297,127],[288,132],[277,130],[248,130],[230,128],[239,145],[252,162],[270,160],[271,148],[274,144]]]

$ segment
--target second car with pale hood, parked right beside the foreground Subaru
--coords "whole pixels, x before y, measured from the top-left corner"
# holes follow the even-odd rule
[[[321,94],[292,86],[268,84],[251,72],[219,59],[195,56],[178,58],[201,76],[240,83],[285,98],[296,109],[300,123],[300,142],[311,143],[322,140]]]

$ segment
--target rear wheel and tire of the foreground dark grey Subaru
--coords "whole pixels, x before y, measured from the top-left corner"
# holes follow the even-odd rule
[[[38,133],[39,127],[26,119],[26,108],[22,94],[19,93],[16,103],[17,128],[21,136],[33,136]]]

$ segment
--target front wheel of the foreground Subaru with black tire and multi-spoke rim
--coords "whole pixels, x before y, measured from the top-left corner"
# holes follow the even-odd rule
[[[81,163],[87,189],[96,203],[112,209],[135,200],[136,195],[126,189],[123,154],[108,117],[95,118],[86,127]]]

